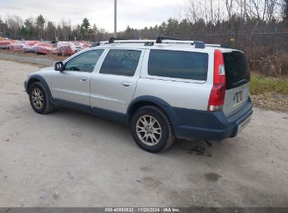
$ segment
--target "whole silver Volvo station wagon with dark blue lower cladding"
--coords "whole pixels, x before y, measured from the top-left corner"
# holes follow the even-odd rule
[[[252,118],[245,54],[201,41],[110,39],[29,74],[32,108],[56,106],[130,125],[144,150],[174,138],[235,137]]]

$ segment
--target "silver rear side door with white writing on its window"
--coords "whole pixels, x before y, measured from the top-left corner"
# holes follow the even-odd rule
[[[111,48],[102,66],[91,79],[90,103],[93,111],[125,114],[135,94],[144,50]]]

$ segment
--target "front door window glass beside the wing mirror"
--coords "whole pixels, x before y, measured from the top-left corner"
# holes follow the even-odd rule
[[[104,50],[91,50],[69,60],[65,70],[92,72]]]

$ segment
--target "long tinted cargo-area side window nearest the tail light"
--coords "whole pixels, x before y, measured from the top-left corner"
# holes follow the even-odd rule
[[[174,50],[150,50],[148,74],[206,81],[208,54]]]

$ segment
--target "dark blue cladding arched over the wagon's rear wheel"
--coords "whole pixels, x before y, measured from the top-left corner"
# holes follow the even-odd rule
[[[177,118],[177,115],[175,114],[170,104],[165,102],[163,99],[160,99],[159,97],[150,95],[139,96],[132,100],[127,110],[127,123],[130,123],[132,115],[135,113],[135,111],[137,111],[137,109],[149,105],[153,105],[162,109],[169,118],[173,129],[177,129],[177,126],[179,125],[179,119]]]

